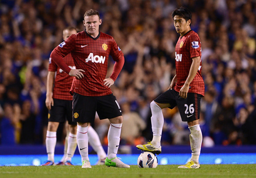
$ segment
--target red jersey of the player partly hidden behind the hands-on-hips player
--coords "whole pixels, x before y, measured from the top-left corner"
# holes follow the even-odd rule
[[[76,68],[71,54],[65,56],[63,60],[69,66],[69,68]],[[69,90],[74,77],[64,72],[53,60],[51,60],[51,58],[49,59],[48,71],[56,72],[52,97],[55,99],[72,100],[72,95],[69,93]]]

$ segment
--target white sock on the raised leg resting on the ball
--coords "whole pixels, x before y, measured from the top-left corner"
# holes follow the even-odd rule
[[[150,103],[150,108],[152,112],[151,124],[153,131],[153,139],[151,143],[156,147],[160,147],[164,116],[162,115],[162,109],[155,103],[155,101]]]

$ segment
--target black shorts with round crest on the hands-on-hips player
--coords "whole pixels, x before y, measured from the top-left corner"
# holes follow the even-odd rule
[[[100,120],[122,116],[118,101],[113,94],[106,96],[84,96],[74,93],[73,121],[92,123],[95,120],[96,111]]]

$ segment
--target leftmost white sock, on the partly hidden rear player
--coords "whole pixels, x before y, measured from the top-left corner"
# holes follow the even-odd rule
[[[54,162],[54,151],[55,151],[55,146],[56,146],[56,132],[46,132],[46,139],[45,139],[45,144],[46,144],[46,151],[48,155],[48,160]]]

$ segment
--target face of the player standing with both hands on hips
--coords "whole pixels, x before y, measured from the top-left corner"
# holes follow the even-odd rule
[[[101,24],[101,19],[99,19],[99,16],[85,16],[83,22],[86,32],[92,37],[97,37],[99,34],[99,26]]]

